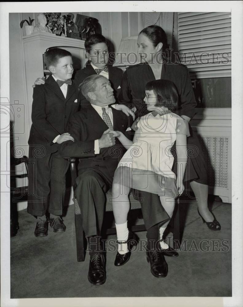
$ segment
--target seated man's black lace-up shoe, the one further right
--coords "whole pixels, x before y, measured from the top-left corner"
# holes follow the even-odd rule
[[[147,262],[150,262],[150,271],[155,277],[166,277],[168,265],[163,253],[159,249],[146,251]]]

